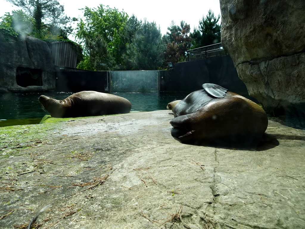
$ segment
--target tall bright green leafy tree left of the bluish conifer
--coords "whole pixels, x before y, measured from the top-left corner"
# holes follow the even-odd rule
[[[128,19],[125,12],[99,5],[85,7],[84,20],[77,24],[76,37],[84,44],[87,60],[85,69],[115,70],[123,62],[122,49],[126,49],[122,32]],[[81,63],[85,66],[84,63]]]

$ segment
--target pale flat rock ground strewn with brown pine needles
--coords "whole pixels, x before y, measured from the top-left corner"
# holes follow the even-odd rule
[[[269,120],[271,140],[246,151],[181,144],[172,118],[1,127],[0,227],[27,227],[47,204],[39,228],[305,227],[304,130]]]

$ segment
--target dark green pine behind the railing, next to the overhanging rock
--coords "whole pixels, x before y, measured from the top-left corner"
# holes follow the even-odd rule
[[[209,10],[206,17],[202,17],[199,21],[199,29],[195,28],[191,34],[193,40],[192,48],[199,48],[206,45],[213,45],[221,42],[221,25],[218,25],[220,15],[214,16],[214,13]]]

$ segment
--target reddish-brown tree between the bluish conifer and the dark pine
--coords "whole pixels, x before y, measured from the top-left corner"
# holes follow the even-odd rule
[[[168,62],[178,63],[185,59],[186,51],[190,49],[192,39],[189,36],[190,25],[186,24],[185,21],[180,22],[180,26],[172,24],[167,28],[170,32],[167,32],[163,36],[163,41],[168,41],[165,49],[165,63],[167,66]]]

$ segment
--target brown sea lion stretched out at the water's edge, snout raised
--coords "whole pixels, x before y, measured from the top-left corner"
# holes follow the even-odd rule
[[[38,100],[55,118],[126,114],[131,109],[127,99],[96,91],[81,91],[64,100],[41,95]]]

